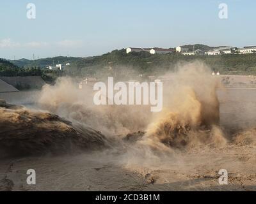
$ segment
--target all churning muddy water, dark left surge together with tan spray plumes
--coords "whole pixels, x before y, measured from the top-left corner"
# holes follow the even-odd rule
[[[42,89],[40,111],[1,108],[1,133],[7,133],[1,134],[1,149],[61,152],[111,143],[116,150],[125,147],[126,155],[163,158],[163,152],[175,149],[225,145],[219,127],[218,77],[205,64],[191,62],[177,65],[163,78],[168,80],[163,80],[160,113],[143,105],[94,105],[92,86],[78,89],[72,78],[60,78]],[[8,135],[12,131],[15,136]]]

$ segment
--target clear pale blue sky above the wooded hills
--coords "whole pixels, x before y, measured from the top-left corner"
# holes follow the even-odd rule
[[[36,19],[26,17],[28,3]],[[220,3],[228,19],[220,19]],[[126,47],[256,45],[255,0],[1,0],[0,57],[100,55]]]

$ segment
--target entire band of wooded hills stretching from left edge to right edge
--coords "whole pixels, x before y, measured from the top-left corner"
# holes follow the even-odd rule
[[[189,45],[186,45],[189,46]],[[190,45],[189,48],[191,48]],[[211,48],[206,45],[196,45],[196,48]],[[161,75],[166,71],[173,71],[178,62],[199,60],[205,62],[213,71],[221,74],[256,75],[256,54],[225,54],[225,55],[182,55],[180,53],[155,54],[148,52],[131,52],[125,49],[113,50],[107,54],[95,57],[53,57],[29,61],[21,59],[18,63],[0,60],[0,76],[42,76],[52,78],[60,76],[97,77],[107,76],[125,77],[127,75]],[[63,71],[45,69],[51,64],[65,64]],[[22,64],[23,63],[23,64]],[[20,66],[17,66],[20,64]],[[36,64],[36,66],[34,66]]]

